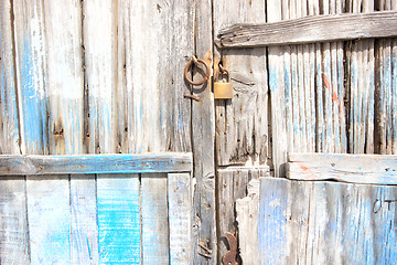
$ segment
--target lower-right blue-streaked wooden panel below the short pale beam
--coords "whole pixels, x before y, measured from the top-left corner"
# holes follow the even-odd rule
[[[396,258],[395,222],[390,222],[395,190],[262,178],[260,264],[390,263]]]

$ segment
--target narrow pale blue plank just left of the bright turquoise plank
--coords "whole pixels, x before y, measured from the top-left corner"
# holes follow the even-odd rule
[[[95,176],[71,176],[72,264],[98,264]]]

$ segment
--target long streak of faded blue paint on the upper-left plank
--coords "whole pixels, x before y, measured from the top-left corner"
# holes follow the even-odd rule
[[[20,91],[22,98],[22,117],[24,128],[22,131],[25,147],[29,152],[42,153],[46,149],[46,108],[45,100],[40,98],[35,83],[34,54],[31,44],[25,38],[20,63]],[[43,144],[43,146],[41,145]]]

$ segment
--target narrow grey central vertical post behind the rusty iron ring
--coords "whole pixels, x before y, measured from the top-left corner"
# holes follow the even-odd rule
[[[213,68],[212,2],[195,1],[194,8],[195,55],[205,60],[210,67]],[[202,78],[202,75],[197,72],[193,75],[195,78]],[[201,102],[192,102],[191,120],[192,142],[194,144],[193,176],[196,179],[196,189],[193,195],[196,223],[193,225],[198,229],[194,230],[193,233],[193,261],[197,264],[216,264],[217,261],[217,252],[215,251],[217,245],[214,158],[215,112],[211,91],[211,82],[192,87],[192,93],[201,98]],[[208,248],[213,250],[211,257],[198,254],[200,243],[207,244]]]

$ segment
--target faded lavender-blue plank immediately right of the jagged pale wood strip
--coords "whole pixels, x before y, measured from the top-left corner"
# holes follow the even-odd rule
[[[260,264],[283,264],[287,253],[287,218],[289,180],[261,178],[258,223]]]

